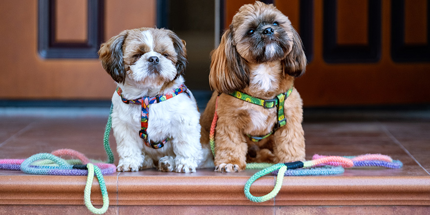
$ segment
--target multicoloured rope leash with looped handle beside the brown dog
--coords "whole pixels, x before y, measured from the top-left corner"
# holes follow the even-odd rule
[[[387,167],[387,168],[401,168],[403,166],[402,162],[392,160],[387,155],[382,154],[366,154],[366,155],[360,155],[356,157],[340,157],[340,156],[321,156],[321,155],[314,155],[314,160],[310,161],[296,161],[291,163],[280,163],[275,164],[272,167],[265,168],[257,173],[255,173],[245,184],[244,187],[244,193],[245,196],[253,201],[253,202],[264,202],[267,201],[273,197],[275,197],[282,186],[282,180],[284,175],[291,175],[287,174],[287,170],[294,170],[294,169],[300,169],[300,168],[310,168],[310,167],[318,167],[321,165],[327,165],[327,164],[334,164],[338,166],[338,168],[342,167],[344,168],[352,168],[358,164],[358,166],[379,166],[379,167]],[[387,163],[391,163],[391,165],[387,165]],[[383,165],[381,165],[383,164]],[[327,167],[323,167],[327,168]],[[330,168],[330,167],[328,167]],[[261,176],[272,172],[272,174],[277,175],[276,184],[274,189],[266,195],[263,196],[254,196],[250,193],[251,185]],[[308,173],[304,171],[304,173]],[[339,173],[342,173],[342,171],[339,171]],[[325,174],[325,173],[324,173]],[[301,175],[301,174],[295,174],[295,175]],[[303,174],[306,175],[306,174]]]

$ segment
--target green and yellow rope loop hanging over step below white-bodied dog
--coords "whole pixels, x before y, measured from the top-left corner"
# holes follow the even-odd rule
[[[104,214],[109,207],[109,197],[108,197],[108,191],[106,189],[105,180],[103,179],[102,172],[97,166],[94,166],[93,164],[89,163],[86,165],[88,168],[88,177],[86,178],[86,185],[84,190],[84,202],[86,205],[86,208],[94,214]],[[100,184],[100,190],[102,191],[103,196],[103,206],[102,208],[95,208],[91,203],[91,186],[92,181],[94,178],[94,172],[97,176],[97,180]]]

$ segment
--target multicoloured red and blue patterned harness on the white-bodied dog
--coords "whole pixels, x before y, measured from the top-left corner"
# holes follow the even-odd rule
[[[172,92],[166,93],[164,95],[156,95],[153,97],[150,96],[144,96],[140,99],[125,99],[123,97],[122,93],[122,89],[120,87],[116,88],[116,92],[118,93],[118,95],[121,96],[121,100],[126,103],[126,104],[136,104],[136,105],[142,105],[142,111],[141,111],[141,120],[140,120],[140,125],[141,125],[141,129],[139,130],[139,136],[140,138],[142,138],[144,140],[144,143],[146,146],[151,147],[152,149],[160,149],[164,146],[164,144],[167,143],[167,141],[169,141],[170,138],[166,138],[160,142],[153,142],[153,141],[148,141],[148,117],[149,117],[149,106],[151,104],[155,104],[155,103],[160,103],[162,101],[166,101],[168,99],[173,98],[174,96],[177,96],[180,93],[187,93],[188,97],[190,97],[190,94],[187,92],[187,86],[185,86],[184,84],[182,84],[179,88],[176,88],[174,90],[172,90]]]

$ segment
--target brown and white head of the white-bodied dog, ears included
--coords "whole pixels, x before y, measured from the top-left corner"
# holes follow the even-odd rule
[[[173,81],[188,63],[185,42],[166,29],[125,30],[103,43],[98,54],[117,83],[148,87]]]

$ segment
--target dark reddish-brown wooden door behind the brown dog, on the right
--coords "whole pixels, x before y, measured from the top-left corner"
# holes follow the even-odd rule
[[[225,0],[224,28],[253,0]],[[266,0],[298,30],[309,61],[304,105],[430,102],[429,0]]]

